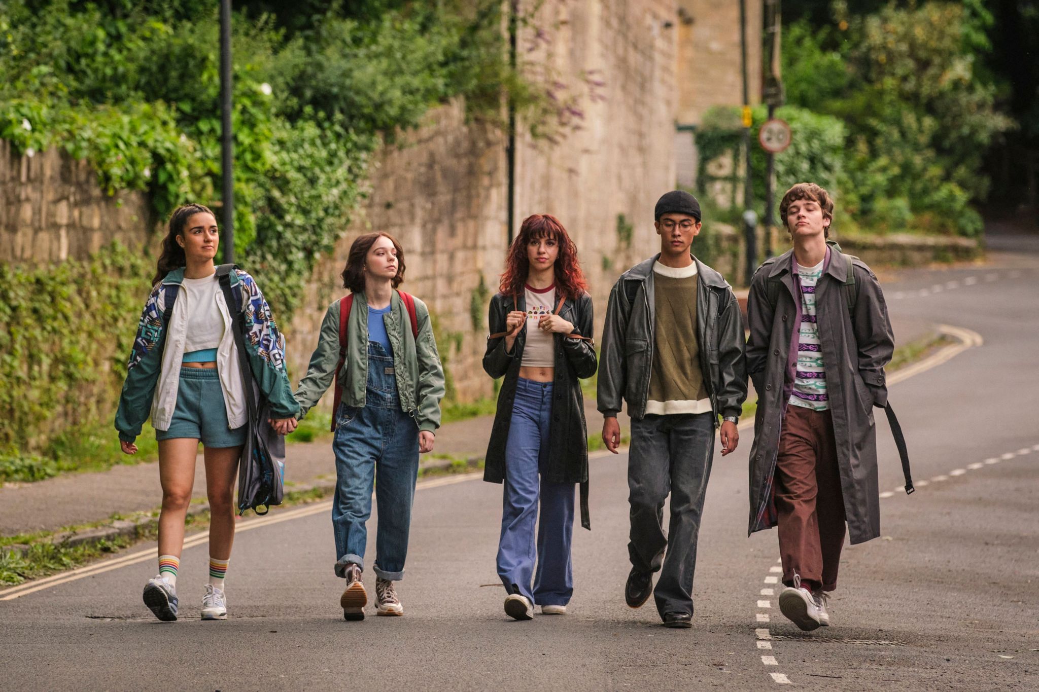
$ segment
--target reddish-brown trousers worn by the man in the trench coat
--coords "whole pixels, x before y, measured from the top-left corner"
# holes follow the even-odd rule
[[[844,495],[829,411],[787,408],[776,461],[782,579],[832,591],[845,538]]]

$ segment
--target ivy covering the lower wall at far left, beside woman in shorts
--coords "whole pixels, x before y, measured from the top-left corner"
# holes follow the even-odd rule
[[[148,275],[144,256],[119,245],[85,261],[0,264],[0,452],[49,449],[57,433],[109,415]]]

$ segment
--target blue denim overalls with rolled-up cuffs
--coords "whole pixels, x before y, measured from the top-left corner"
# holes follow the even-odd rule
[[[336,494],[331,523],[336,533],[336,575],[344,577],[348,562],[365,569],[365,523],[372,515],[372,482],[378,503],[375,575],[404,577],[411,501],[419,475],[419,426],[400,408],[393,355],[368,342],[365,406],[336,412]]]

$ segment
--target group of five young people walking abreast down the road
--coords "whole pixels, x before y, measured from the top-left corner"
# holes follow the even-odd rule
[[[869,409],[886,400],[883,368],[891,355],[876,277],[826,243],[832,213],[826,191],[811,184],[783,197],[780,217],[794,248],[755,273],[745,342],[729,284],[691,252],[701,228],[697,200],[681,191],[665,194],[655,210],[661,251],[613,286],[600,354],[576,245],[550,215],[523,222],[490,302],[483,358],[487,375],[502,379],[484,479],[504,485],[497,566],[509,616],[530,619],[535,606],[544,614],[565,613],[572,596],[576,488],[582,526],[590,528],[581,380],[597,369],[610,451],[618,451],[624,402],[632,419],[625,602],[638,608],[655,594],[665,626],[691,627],[715,431],[720,427],[722,455],[731,453],[749,372],[758,394],[750,530],[779,526],[784,614],[802,629],[828,624],[823,594],[835,587],[845,522],[853,543],[876,534]],[[211,211],[189,204],[174,213],[116,415],[125,452],[136,452],[133,442],[149,414],[159,440],[159,574],[145,585],[144,603],[159,619],[177,619],[177,571],[201,441],[211,507],[202,616],[227,617],[232,492],[247,423],[246,384],[232,337],[231,311],[237,310],[246,359],[278,433],[292,432],[336,382],[335,573],[346,580],[340,605],[346,619],[364,618],[374,486],[376,612],[401,615],[394,582],[404,574],[419,455],[433,449],[445,393],[429,310],[398,290],[403,248],[382,232],[353,243],[342,273],[350,293],[328,307],[293,392],[284,337],[256,281],[237,268],[225,272],[232,305],[218,287],[217,245]],[[846,287],[836,287],[849,276],[858,282],[854,303],[845,300]],[[829,323],[840,326],[820,329]]]

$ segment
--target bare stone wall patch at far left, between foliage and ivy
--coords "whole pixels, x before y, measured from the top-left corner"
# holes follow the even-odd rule
[[[148,197],[108,196],[98,172],[59,149],[31,157],[0,140],[0,258],[52,262],[83,258],[112,241],[148,240]]]

